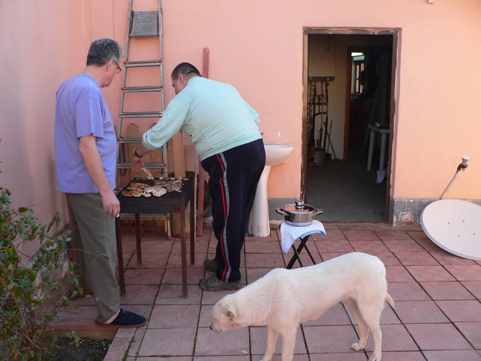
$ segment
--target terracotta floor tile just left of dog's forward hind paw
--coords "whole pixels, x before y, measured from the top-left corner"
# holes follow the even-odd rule
[[[353,326],[304,326],[303,329],[309,353],[349,353],[350,345],[358,340]]]

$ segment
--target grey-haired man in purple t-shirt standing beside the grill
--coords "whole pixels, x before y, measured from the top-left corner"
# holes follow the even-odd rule
[[[80,285],[85,294],[96,298],[96,322],[140,327],[146,319],[120,308],[115,279],[115,217],[120,213],[113,193],[117,140],[100,90],[122,71],[121,58],[122,48],[116,41],[93,41],[84,71],[58,87],[55,171],[57,188],[65,192],[74,226],[71,239]]]

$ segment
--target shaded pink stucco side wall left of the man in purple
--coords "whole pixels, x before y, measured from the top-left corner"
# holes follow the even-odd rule
[[[55,91],[85,65],[88,1],[0,1],[0,175],[15,206],[66,215],[54,185]]]

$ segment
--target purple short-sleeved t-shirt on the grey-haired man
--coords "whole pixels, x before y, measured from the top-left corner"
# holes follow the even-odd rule
[[[93,134],[105,175],[115,188],[117,138],[100,85],[87,74],[66,80],[56,92],[55,174],[60,192],[98,193],[82,154],[78,139]]]

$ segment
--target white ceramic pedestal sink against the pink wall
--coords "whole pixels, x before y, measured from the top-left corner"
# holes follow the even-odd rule
[[[249,234],[254,234],[256,237],[267,237],[271,233],[267,204],[267,179],[269,179],[271,166],[285,162],[294,149],[290,143],[264,143],[264,148],[265,167],[257,185],[248,229]]]

